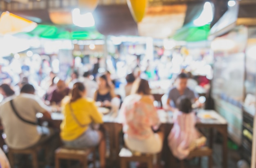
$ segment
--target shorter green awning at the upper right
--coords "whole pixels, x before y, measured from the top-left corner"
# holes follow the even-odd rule
[[[207,40],[210,33],[210,24],[201,27],[195,27],[187,24],[181,29],[177,30],[173,39],[176,41],[198,42]]]

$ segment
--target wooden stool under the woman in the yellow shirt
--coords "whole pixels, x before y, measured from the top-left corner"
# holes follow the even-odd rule
[[[88,149],[68,149],[68,148],[58,148],[55,150],[55,168],[60,168],[60,160],[78,160],[80,164],[83,165],[83,168],[88,167],[88,155],[93,153],[93,164],[94,168],[96,167],[96,148]]]

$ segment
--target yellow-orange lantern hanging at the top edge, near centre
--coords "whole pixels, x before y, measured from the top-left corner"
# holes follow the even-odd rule
[[[148,0],[127,0],[132,17],[136,22],[141,22],[146,13]]]

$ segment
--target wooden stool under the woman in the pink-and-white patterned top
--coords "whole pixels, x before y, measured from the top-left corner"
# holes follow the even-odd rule
[[[130,150],[127,148],[122,148],[119,153],[120,158],[120,167],[121,168],[127,168],[128,163],[130,161],[138,161],[140,163],[147,163],[148,168],[153,168],[153,158],[154,155],[151,154],[141,154],[141,155],[133,155]]]

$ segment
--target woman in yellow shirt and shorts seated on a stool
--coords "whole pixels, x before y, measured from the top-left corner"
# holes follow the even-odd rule
[[[90,148],[99,145],[101,168],[105,168],[104,135],[91,127],[92,123],[103,123],[102,115],[98,112],[94,100],[84,98],[85,96],[85,86],[81,82],[75,83],[70,101],[63,106],[61,139],[68,148]]]

